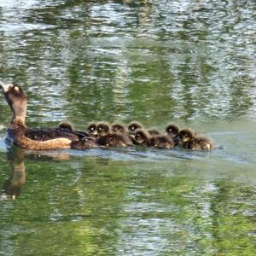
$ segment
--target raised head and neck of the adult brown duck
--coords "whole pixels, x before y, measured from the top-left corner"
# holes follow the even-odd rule
[[[13,121],[20,121],[25,124],[27,96],[17,84],[4,84],[0,82],[3,95],[13,112]]]

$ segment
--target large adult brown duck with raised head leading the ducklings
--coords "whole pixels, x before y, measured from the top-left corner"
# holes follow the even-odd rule
[[[95,140],[84,133],[67,131],[60,128],[28,128],[26,126],[27,96],[20,85],[0,82],[3,95],[12,111],[5,142],[20,148],[31,150],[49,150],[72,148],[73,142],[79,142],[86,137],[90,146],[96,146]]]

